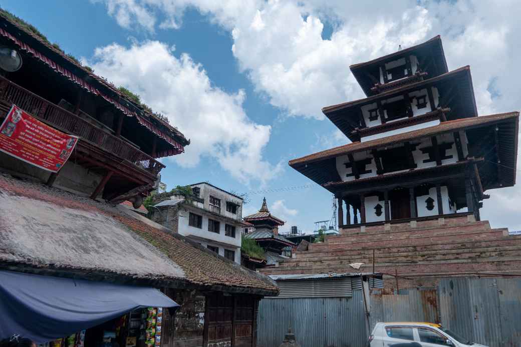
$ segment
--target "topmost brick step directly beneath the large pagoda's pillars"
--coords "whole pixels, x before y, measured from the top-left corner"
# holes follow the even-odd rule
[[[399,232],[406,230],[426,230],[426,229],[437,229],[443,227],[455,227],[455,226],[467,226],[467,225],[488,225],[490,227],[490,223],[488,220],[481,221],[468,221],[467,217],[458,217],[458,218],[445,218],[444,223],[442,225],[439,224],[438,219],[428,220],[428,221],[417,221],[416,226],[412,227],[410,222],[400,223],[400,224],[390,224],[391,232]],[[342,236],[349,236],[353,234],[366,234],[366,233],[380,233],[380,232],[389,232],[389,230],[385,230],[385,226],[383,224],[376,226],[366,226],[365,231],[361,231],[361,228],[353,228],[353,229],[342,229],[340,230],[340,234]]]

